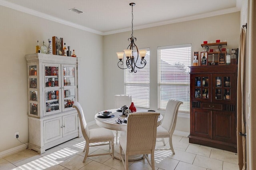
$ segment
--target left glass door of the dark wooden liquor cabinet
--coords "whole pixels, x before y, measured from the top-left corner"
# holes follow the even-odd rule
[[[204,75],[195,75],[193,77],[193,84],[194,89],[192,89],[192,98],[196,100],[205,101],[209,99],[210,94],[210,75],[204,74]]]

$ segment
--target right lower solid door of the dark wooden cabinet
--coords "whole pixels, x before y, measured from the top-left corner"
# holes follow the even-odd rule
[[[213,139],[236,143],[236,122],[234,112],[212,111]]]

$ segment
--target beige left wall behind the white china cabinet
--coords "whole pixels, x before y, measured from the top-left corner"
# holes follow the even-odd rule
[[[86,119],[104,107],[103,36],[0,6],[0,152],[28,142],[28,87],[25,54],[35,53],[37,40],[60,36],[81,57],[79,101]],[[97,67],[96,67],[97,66]]]

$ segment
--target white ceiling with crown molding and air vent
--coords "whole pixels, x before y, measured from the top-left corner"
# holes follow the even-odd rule
[[[0,5],[100,35],[240,11],[241,0],[0,0]],[[77,14],[70,11],[76,8]]]

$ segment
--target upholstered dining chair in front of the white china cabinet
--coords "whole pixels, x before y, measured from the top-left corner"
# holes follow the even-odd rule
[[[76,108],[76,110],[78,112],[80,125],[81,125],[81,129],[82,129],[82,134],[83,134],[85,142],[86,142],[86,144],[84,146],[84,150],[83,150],[83,152],[85,151],[83,162],[85,162],[86,158],[90,157],[90,156],[101,156],[101,155],[108,155],[108,154],[112,155],[112,158],[114,159],[114,134],[113,134],[113,132],[106,128],[94,128],[94,129],[89,130],[89,128],[86,124],[86,121],[84,118],[84,113],[83,113],[80,103],[75,101],[72,107]],[[96,143],[96,142],[101,142],[101,143],[90,145],[90,143]],[[106,142],[108,142],[108,143],[106,143]],[[110,143],[111,143],[111,147],[110,147]],[[112,148],[112,152],[88,155],[89,147],[101,146],[101,145],[109,145],[109,149]]]

